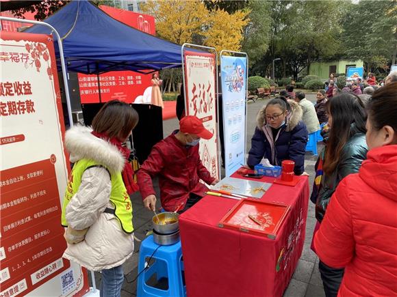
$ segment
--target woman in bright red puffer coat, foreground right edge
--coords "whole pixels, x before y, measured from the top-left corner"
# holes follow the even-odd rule
[[[345,268],[338,296],[397,296],[397,83],[368,103],[367,160],[340,182],[314,246]]]

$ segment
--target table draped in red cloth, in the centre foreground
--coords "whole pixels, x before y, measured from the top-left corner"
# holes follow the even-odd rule
[[[260,199],[291,207],[274,240],[218,227],[235,199],[206,196],[179,216],[188,297],[282,296],[305,242],[309,179],[297,178],[294,187],[272,184]]]

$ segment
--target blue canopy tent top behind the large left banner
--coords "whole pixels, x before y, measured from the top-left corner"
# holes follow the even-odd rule
[[[52,25],[60,34],[68,71],[147,73],[181,67],[181,46],[129,27],[86,0],[71,1],[44,23]],[[50,34],[51,30],[34,25],[25,32]],[[57,44],[54,45],[59,58]],[[59,59],[57,63],[60,69]]]

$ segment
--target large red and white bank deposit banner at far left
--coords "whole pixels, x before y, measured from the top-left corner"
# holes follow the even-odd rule
[[[82,296],[86,273],[62,259],[68,178],[53,38],[1,32],[0,296]]]

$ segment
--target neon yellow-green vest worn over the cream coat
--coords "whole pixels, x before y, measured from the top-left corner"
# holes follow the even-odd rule
[[[79,190],[81,177],[83,176],[84,171],[90,167],[97,166],[102,167],[102,165],[95,162],[94,160],[88,159],[81,159],[73,166],[71,175],[68,178],[68,185],[66,187],[64,203],[62,205],[62,226],[68,226],[68,222],[66,222],[65,217],[66,206],[68,206],[68,203],[71,201],[72,197],[75,195],[75,193],[77,193],[77,190]],[[118,221],[120,221],[121,229],[123,229],[125,233],[131,234],[133,232],[131,199],[129,198],[127,189],[125,188],[121,173],[113,173],[110,176],[110,180],[112,182],[110,202],[112,202],[115,208],[114,215],[118,218]]]

